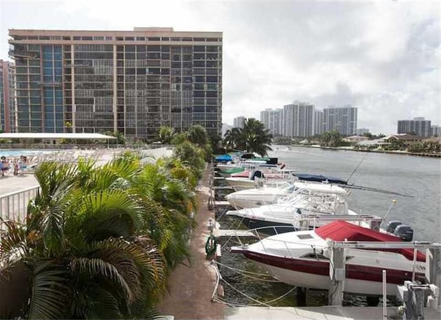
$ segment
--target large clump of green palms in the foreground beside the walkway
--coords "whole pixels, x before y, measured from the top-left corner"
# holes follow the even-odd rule
[[[0,266],[25,266],[28,299],[14,317],[152,316],[165,274],[188,257],[191,174],[175,160],[140,166],[125,153],[103,167],[42,163],[24,224],[4,222]]]

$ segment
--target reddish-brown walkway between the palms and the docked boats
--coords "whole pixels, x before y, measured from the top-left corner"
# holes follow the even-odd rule
[[[205,170],[203,187],[198,191],[197,226],[191,242],[190,266],[179,265],[168,280],[169,292],[158,306],[160,314],[173,315],[175,319],[223,319],[224,306],[211,301],[216,273],[205,259],[205,242],[209,236],[209,219],[214,212],[207,209],[209,198],[209,170]]]

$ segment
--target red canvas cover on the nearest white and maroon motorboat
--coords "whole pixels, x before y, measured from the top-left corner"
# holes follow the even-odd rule
[[[316,228],[316,234],[322,237],[322,239],[333,239],[334,241],[385,241],[385,242],[399,242],[402,241],[400,237],[395,235],[388,235],[387,233],[380,233],[378,231],[373,231],[369,228],[363,228],[362,226],[356,226],[349,222],[336,220]],[[399,248],[399,249],[376,249],[382,251],[391,251],[395,253],[400,253],[404,255],[409,260],[413,260],[413,249],[409,248]],[[426,255],[418,251],[416,259],[418,261],[426,261]]]

